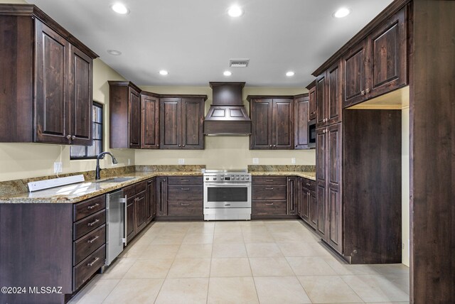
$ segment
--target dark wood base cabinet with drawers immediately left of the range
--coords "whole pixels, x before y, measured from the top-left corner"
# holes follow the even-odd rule
[[[161,177],[156,187],[158,219],[203,219],[202,177]]]

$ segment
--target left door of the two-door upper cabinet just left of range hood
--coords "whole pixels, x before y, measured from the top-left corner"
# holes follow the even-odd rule
[[[180,98],[160,99],[159,140],[160,148],[176,149],[181,147],[181,107]]]

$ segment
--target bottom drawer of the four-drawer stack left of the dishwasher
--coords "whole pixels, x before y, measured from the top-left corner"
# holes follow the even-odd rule
[[[73,268],[73,289],[79,288],[87,281],[93,273],[105,264],[106,245],[101,246],[97,251],[90,254],[87,259],[83,260]]]

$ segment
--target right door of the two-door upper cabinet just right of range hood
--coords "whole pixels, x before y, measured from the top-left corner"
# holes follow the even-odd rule
[[[272,145],[274,149],[294,148],[294,102],[292,99],[273,99]]]

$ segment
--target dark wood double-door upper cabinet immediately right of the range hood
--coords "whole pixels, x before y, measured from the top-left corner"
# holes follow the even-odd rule
[[[250,149],[294,148],[294,97],[248,96],[252,134]]]

